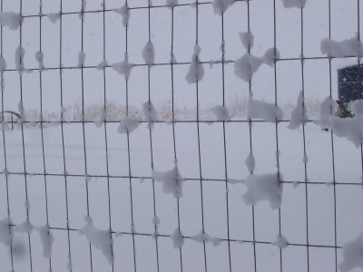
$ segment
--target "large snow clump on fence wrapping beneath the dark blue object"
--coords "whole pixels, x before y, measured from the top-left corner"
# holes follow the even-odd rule
[[[346,138],[358,148],[363,142],[363,101],[352,102],[353,118],[339,118],[334,112],[336,103],[327,97],[320,105],[319,120],[315,121],[321,129],[330,129],[338,137]]]

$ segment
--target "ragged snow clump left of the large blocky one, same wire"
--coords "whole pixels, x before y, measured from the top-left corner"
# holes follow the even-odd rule
[[[185,179],[180,175],[177,166],[165,172],[152,170],[152,179],[162,182],[162,191],[172,194],[175,199],[182,198],[182,182]]]

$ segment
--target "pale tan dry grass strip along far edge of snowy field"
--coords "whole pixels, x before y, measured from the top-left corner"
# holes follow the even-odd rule
[[[309,118],[314,119],[319,115],[320,101],[318,99],[307,99],[305,102],[306,109],[309,114]],[[215,116],[211,113],[211,108],[215,104],[209,104],[203,107],[199,107],[199,120],[201,121],[213,121]],[[247,117],[247,99],[246,98],[229,98],[226,100],[226,106],[230,112],[232,119],[246,119]],[[280,105],[284,111],[284,119],[289,120],[290,112],[295,107],[294,102],[286,102]],[[95,104],[84,105],[84,119],[82,114],[82,102],[77,99],[73,106],[67,106],[64,108],[63,119],[64,121],[97,121],[101,118],[101,112],[104,105],[102,102]],[[107,110],[106,121],[121,121],[126,115],[126,105],[115,101],[106,102],[105,108]],[[172,101],[166,100],[160,104],[155,105],[158,112],[158,119],[160,121],[172,120]],[[60,121],[62,113],[59,112],[43,112],[43,120],[48,122]],[[139,120],[145,120],[142,114],[142,107],[136,107],[129,105],[128,115]],[[196,106],[184,106],[180,107],[174,105],[174,118],[175,120],[182,121],[195,121],[197,120],[197,107]],[[40,121],[40,112],[36,109],[25,109],[26,121]]]

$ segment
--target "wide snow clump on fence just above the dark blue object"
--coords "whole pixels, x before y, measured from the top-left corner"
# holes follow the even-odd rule
[[[344,58],[347,56],[363,56],[363,44],[358,40],[358,37],[337,42],[329,38],[322,39],[320,42],[321,53],[326,53],[327,56]]]

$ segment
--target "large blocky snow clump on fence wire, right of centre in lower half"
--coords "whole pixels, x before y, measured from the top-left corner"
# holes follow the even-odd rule
[[[282,176],[280,175],[280,180]],[[262,175],[250,174],[244,184],[247,191],[242,195],[246,205],[256,205],[257,202],[267,200],[271,209],[279,209],[282,198],[282,184],[279,181],[278,173]]]

